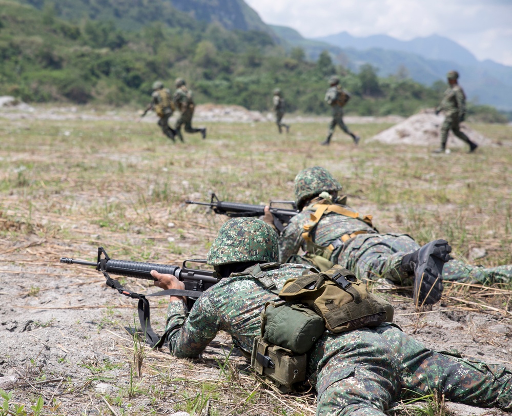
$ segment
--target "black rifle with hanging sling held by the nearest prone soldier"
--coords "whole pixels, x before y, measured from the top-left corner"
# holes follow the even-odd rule
[[[138,299],[138,314],[140,326],[144,329],[146,341],[152,346],[160,347],[166,340],[166,335],[159,337],[151,328],[150,307],[148,297],[152,296],[186,296],[187,306],[190,309],[197,298],[204,290],[218,283],[218,279],[213,277],[213,272],[208,270],[200,270],[187,267],[187,262],[206,263],[206,260],[188,259],[183,261],[182,267],[175,265],[142,263],[129,260],[111,259],[103,247],[98,247],[97,261],[75,260],[68,257],[61,257],[61,263],[81,264],[85,266],[93,266],[98,272],[103,273],[107,279],[107,286],[116,289],[121,295],[128,296],[132,299]],[[165,273],[175,276],[178,280],[185,283],[185,290],[167,289],[149,295],[142,295],[125,289],[119,281],[112,279],[109,274],[117,276],[135,277],[137,279],[146,279],[155,281],[151,276],[151,271],[156,270],[158,273]]]

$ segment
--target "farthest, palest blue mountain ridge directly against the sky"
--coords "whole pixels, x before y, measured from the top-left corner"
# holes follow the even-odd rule
[[[399,40],[387,35],[355,37],[347,32],[316,38],[338,48],[357,50],[385,49],[415,53],[427,59],[457,62],[460,65],[475,65],[477,58],[464,47],[443,36],[432,35],[412,40]]]

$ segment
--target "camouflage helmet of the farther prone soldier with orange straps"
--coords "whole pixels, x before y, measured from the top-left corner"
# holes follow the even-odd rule
[[[324,168],[314,166],[300,171],[295,177],[295,203],[302,210],[305,203],[323,191],[341,191],[342,186]]]

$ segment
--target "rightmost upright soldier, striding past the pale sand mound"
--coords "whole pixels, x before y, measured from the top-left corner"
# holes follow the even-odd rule
[[[444,112],[444,121],[441,126],[441,147],[435,150],[434,153],[446,152],[446,140],[450,130],[459,139],[469,144],[469,153],[472,153],[478,148],[478,144],[469,140],[469,137],[460,130],[459,126],[459,123],[464,121],[466,117],[466,95],[457,82],[459,73],[457,71],[449,71],[446,74],[446,78],[448,80],[448,89],[444,92],[441,104],[436,108],[436,115],[441,111]]]

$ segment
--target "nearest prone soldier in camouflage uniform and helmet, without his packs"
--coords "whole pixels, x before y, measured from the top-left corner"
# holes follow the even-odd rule
[[[265,302],[279,302],[275,293],[284,282],[308,271],[304,265],[279,265],[277,258],[277,235],[269,225],[254,218],[224,224],[207,258],[222,280],[190,311],[182,299],[171,297],[166,327],[171,353],[198,357],[224,330],[248,355],[261,335]],[[172,275],[151,274],[160,288],[182,288]],[[317,416],[384,416],[392,401],[434,390],[449,401],[512,410],[512,372],[505,367],[433,351],[388,323],[341,334],[325,331],[308,353],[308,377],[318,392]]]

